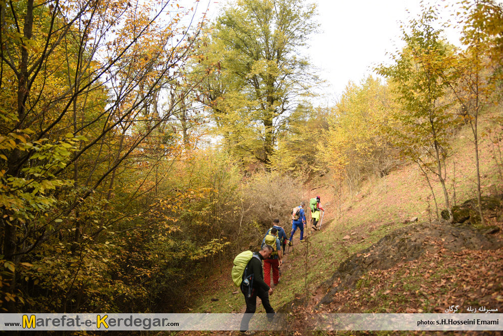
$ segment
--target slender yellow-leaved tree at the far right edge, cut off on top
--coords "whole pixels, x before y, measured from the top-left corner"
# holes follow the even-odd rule
[[[503,7],[491,0],[461,2],[463,48],[447,58],[442,79],[461,105],[473,134],[477,202],[482,224],[479,117],[484,108],[501,99],[503,81]]]

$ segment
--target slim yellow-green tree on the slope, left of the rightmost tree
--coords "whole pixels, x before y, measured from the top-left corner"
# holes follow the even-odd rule
[[[433,28],[436,19],[435,9],[429,8],[423,10],[419,19],[411,20],[406,28],[409,31],[403,30],[406,46],[392,56],[393,65],[381,66],[377,71],[390,79],[401,107],[394,115],[396,122],[389,133],[401,153],[419,165],[430,185],[435,205],[428,175],[438,179],[445,207],[452,218],[445,186],[445,159],[456,116],[449,113],[451,102],[446,99],[446,84],[440,75],[446,65],[445,56],[451,51],[441,41],[440,30]]]

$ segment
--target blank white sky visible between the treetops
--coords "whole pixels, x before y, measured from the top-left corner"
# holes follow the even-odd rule
[[[188,1],[188,0],[186,0]],[[205,2],[206,1],[206,2]],[[204,7],[208,0],[201,0]],[[221,4],[235,0],[210,0],[209,17],[215,18]],[[389,57],[400,42],[400,22],[407,22],[420,13],[420,0],[306,0],[318,5],[319,34],[312,35],[306,51],[312,65],[326,81],[317,99],[318,105],[332,105],[351,80],[360,82],[372,73],[372,68]],[[452,5],[456,0],[431,0]],[[409,12],[407,11],[409,10]],[[449,19],[443,9],[441,21]],[[449,42],[458,44],[458,35],[447,31]]]

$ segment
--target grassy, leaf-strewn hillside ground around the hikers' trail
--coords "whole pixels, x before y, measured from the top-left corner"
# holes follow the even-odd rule
[[[495,111],[492,111],[495,113]],[[498,113],[501,113],[500,111]],[[488,121],[491,114],[483,116],[481,125],[493,127]],[[452,204],[460,204],[475,197],[475,165],[470,130],[465,127],[452,142],[451,155],[447,159],[447,185]],[[501,194],[501,177],[491,157],[494,150],[488,138],[481,143],[480,162],[484,195]],[[311,185],[320,185],[312,181]],[[312,186],[306,186],[307,190]],[[438,183],[434,184],[437,203],[443,207]],[[311,192],[310,194],[313,194]],[[487,306],[487,309],[503,310],[503,249],[480,250],[479,248],[453,251],[446,247],[441,235],[426,237],[421,242],[429,249],[411,260],[401,260],[386,269],[369,268],[359,275],[353,284],[340,287],[344,280],[333,278],[338,268],[350,257],[365,253],[385,236],[396,230],[413,231],[417,225],[435,224],[435,205],[426,181],[419,168],[405,165],[389,175],[363,181],[358,193],[342,200],[342,212],[336,209],[336,200],[330,188],[316,190],[327,200],[324,207],[323,226],[320,231],[306,229],[308,244],[298,244],[298,232],[294,238],[294,252],[286,254],[282,266],[280,284],[270,297],[271,305],[289,316],[287,331],[279,334],[311,334],[310,314],[336,313],[437,313],[452,305],[460,309],[470,306]],[[313,197],[313,195],[309,195]],[[418,217],[419,224],[408,219]],[[503,241],[503,213],[501,209],[486,213],[487,225],[500,228],[491,234]],[[433,221],[433,222],[432,222]],[[285,226],[285,231],[289,228]],[[431,239],[430,239],[431,238]],[[365,255],[364,255],[365,257]],[[231,313],[242,312],[244,299],[230,280],[232,260],[207,279],[199,300],[186,312]],[[338,290],[333,289],[337,287]],[[327,296],[328,295],[328,296]],[[320,302],[324,300],[323,305]],[[494,307],[493,307],[494,306]],[[257,313],[264,313],[257,306]],[[318,331],[316,334],[424,334],[417,332],[344,332]],[[442,334],[444,332],[441,332]],[[462,334],[467,334],[464,331]],[[161,333],[164,334],[164,333]],[[239,334],[238,331],[178,332],[178,334]],[[271,334],[261,331],[257,334]],[[451,332],[451,334],[454,334]],[[487,334],[501,334],[488,332]]]

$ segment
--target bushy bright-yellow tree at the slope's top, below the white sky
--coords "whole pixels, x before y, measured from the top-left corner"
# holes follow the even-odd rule
[[[359,84],[349,82],[327,113],[321,159],[330,168],[338,199],[343,183],[352,195],[361,180],[387,175],[393,167],[393,151],[383,133],[391,104],[388,87],[369,76]]]

